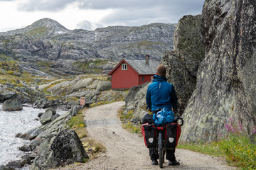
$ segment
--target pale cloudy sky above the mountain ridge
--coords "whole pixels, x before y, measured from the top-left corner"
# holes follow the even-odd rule
[[[51,18],[70,30],[177,23],[201,14],[204,0],[0,0],[0,32]]]

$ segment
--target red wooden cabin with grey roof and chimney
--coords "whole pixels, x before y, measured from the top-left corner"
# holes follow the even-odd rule
[[[121,60],[108,74],[111,75],[112,89],[130,89],[132,86],[144,84],[153,79],[159,61],[149,60]]]

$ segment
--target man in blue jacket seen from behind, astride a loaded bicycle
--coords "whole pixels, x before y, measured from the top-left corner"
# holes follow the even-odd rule
[[[152,114],[157,113],[156,110],[161,108],[172,109],[174,113],[177,111],[177,96],[174,86],[169,84],[166,79],[166,67],[159,65],[156,68],[156,75],[153,82],[149,84],[146,92],[146,105],[152,111]],[[156,148],[149,148],[149,156],[152,165],[157,165],[159,154]],[[179,165],[175,158],[175,147],[166,149],[166,159],[169,160],[168,165]]]

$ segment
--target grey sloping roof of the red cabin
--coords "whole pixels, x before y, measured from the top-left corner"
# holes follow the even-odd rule
[[[132,66],[139,74],[156,74],[156,67],[159,66],[160,61],[149,60],[146,64],[145,60],[125,60]]]

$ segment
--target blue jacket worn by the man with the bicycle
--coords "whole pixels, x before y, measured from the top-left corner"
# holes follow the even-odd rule
[[[154,76],[146,91],[146,105],[152,111],[158,108],[173,108],[177,111],[177,96],[174,86],[167,82],[166,77]]]

